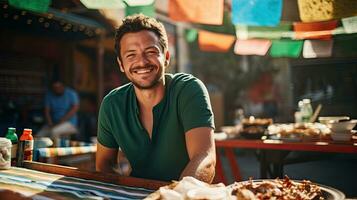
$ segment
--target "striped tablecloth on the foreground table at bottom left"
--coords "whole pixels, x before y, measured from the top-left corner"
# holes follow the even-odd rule
[[[153,192],[17,167],[0,170],[0,190],[4,189],[34,199],[143,199]]]

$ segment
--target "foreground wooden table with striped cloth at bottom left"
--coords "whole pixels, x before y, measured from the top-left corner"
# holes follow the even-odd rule
[[[143,199],[167,182],[37,162],[0,170],[1,199]]]

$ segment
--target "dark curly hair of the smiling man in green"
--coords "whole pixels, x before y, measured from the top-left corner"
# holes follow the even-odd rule
[[[159,45],[163,51],[168,48],[168,39],[164,25],[155,18],[136,14],[127,16],[122,20],[122,24],[116,29],[115,33],[115,52],[121,61],[120,40],[126,33],[136,33],[148,30],[154,32],[159,38]]]

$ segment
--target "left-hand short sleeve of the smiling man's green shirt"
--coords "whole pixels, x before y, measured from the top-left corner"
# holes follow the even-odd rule
[[[99,109],[97,139],[105,147],[119,148],[110,126],[108,103],[104,99]]]

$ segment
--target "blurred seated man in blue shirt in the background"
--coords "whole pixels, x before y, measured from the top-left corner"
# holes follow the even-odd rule
[[[79,98],[76,91],[65,87],[62,81],[53,80],[51,91],[45,96],[45,117],[47,124],[36,136],[59,138],[77,133],[77,111]]]

